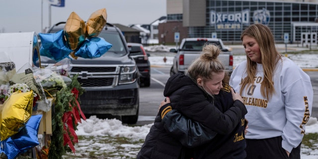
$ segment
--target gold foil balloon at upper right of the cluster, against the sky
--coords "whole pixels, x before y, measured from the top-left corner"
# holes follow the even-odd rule
[[[97,37],[106,25],[106,8],[98,9],[93,12],[86,22],[87,37]]]

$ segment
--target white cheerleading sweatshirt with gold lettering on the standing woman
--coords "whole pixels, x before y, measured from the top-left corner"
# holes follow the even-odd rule
[[[230,85],[239,92],[241,79],[247,76],[246,61],[233,71]],[[282,147],[291,152],[302,141],[305,124],[313,106],[310,77],[292,60],[282,57],[273,74],[275,93],[268,100],[261,95],[264,79],[263,65],[257,64],[254,85],[244,89],[241,96],[247,108],[246,139],[266,139],[282,136]]]

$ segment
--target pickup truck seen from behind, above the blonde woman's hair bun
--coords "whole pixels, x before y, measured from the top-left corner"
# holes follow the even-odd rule
[[[217,38],[184,38],[179,49],[170,49],[170,52],[176,53],[173,58],[173,65],[170,69],[170,76],[176,73],[184,73],[193,60],[200,56],[205,44],[216,44],[220,47],[219,58],[223,62],[229,74],[233,71],[233,53],[226,47],[221,39]]]

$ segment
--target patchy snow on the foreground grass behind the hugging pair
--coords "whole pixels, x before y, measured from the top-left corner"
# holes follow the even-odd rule
[[[140,116],[139,120],[149,119]],[[146,138],[151,126],[152,124],[131,127],[122,125],[121,121],[117,119],[98,119],[96,116],[91,116],[86,121],[82,120],[77,127],[76,133],[82,138],[75,146],[76,156],[90,156],[89,158],[80,157],[80,159],[94,157],[98,159],[136,158],[143,144],[140,140]],[[310,118],[306,124],[306,134],[308,133],[318,133],[317,118]],[[130,142],[124,144],[112,142],[114,138],[121,137],[128,138]],[[111,154],[111,157],[105,156],[105,154]],[[68,153],[64,158],[73,159],[74,154]],[[318,159],[318,149],[312,150],[302,145],[301,159]]]

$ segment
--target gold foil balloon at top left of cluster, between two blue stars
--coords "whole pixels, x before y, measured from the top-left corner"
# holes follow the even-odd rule
[[[64,26],[64,35],[72,50],[76,50],[85,40],[85,32],[85,22],[73,11]]]

